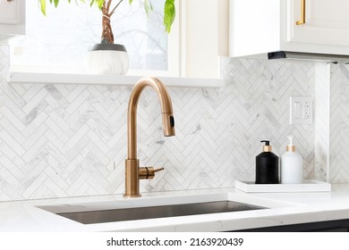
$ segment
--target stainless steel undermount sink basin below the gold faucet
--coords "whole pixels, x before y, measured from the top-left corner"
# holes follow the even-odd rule
[[[266,209],[266,207],[261,207],[253,204],[244,204],[231,200],[186,204],[159,204],[140,207],[123,207],[113,209],[108,208],[88,211],[84,209],[82,209],[82,211],[76,211],[77,207],[79,206],[75,205],[72,207],[72,211],[69,211],[69,209],[67,210],[65,206],[65,211],[60,212],[59,209],[57,209],[57,207],[55,206],[39,206],[39,208],[47,210],[48,212],[55,212],[55,214],[57,215],[71,219],[72,221],[81,222],[83,224]]]

